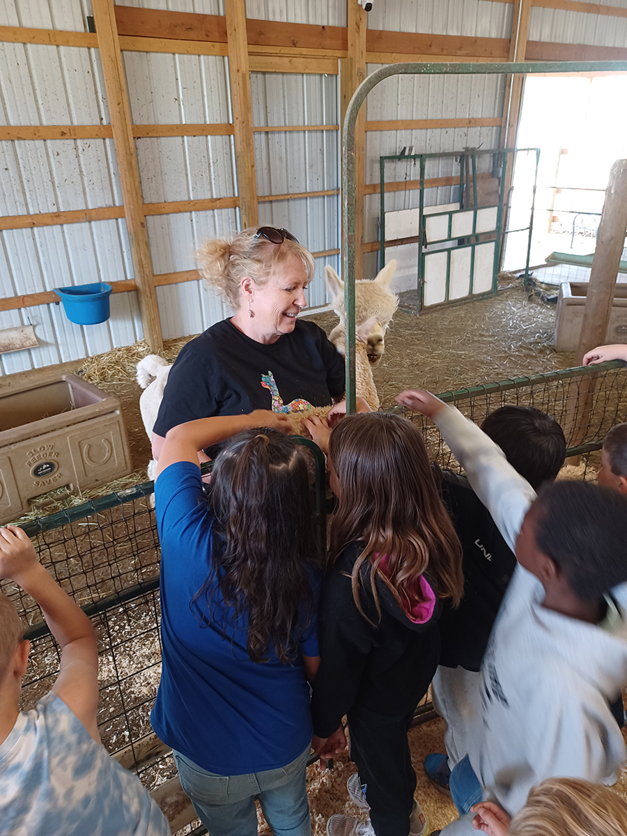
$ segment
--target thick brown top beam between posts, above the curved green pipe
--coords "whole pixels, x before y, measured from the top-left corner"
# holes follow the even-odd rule
[[[370,53],[406,53],[457,55],[507,60],[507,38],[469,38],[465,35],[426,35],[413,32],[389,32],[369,29],[366,51]]]

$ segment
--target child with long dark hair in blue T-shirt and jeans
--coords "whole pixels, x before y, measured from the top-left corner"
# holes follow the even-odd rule
[[[189,421],[159,457],[163,666],[150,719],[212,836],[256,834],[256,798],[275,836],[311,834],[319,540],[307,458],[287,430],[266,410]],[[229,436],[205,501],[198,451]]]

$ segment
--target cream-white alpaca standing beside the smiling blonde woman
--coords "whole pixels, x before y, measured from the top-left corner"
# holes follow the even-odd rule
[[[390,261],[372,281],[359,279],[355,282],[355,390],[358,397],[364,398],[373,410],[379,409],[380,402],[372,366],[379,362],[385,351],[385,330],[399,306],[398,297],[388,289],[395,269],[396,262]],[[329,339],[344,356],[344,283],[333,268],[324,268],[324,275],[329,293],[334,297],[334,311],[339,316],[339,324],[331,331]],[[150,440],[171,368],[171,364],[158,354],[148,354],[137,364],[137,382],[144,390],[140,396],[141,419]],[[308,435],[303,428],[303,420],[310,415],[322,417],[330,408],[319,406],[305,412],[288,413],[293,432]],[[148,478],[154,479],[155,472],[156,461],[151,459]]]

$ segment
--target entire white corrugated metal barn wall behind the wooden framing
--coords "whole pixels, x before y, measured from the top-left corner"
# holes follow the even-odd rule
[[[140,8],[223,14],[223,0],[120,0]],[[610,0],[611,2],[611,0]],[[627,8],[627,0],[613,5]],[[0,0],[0,25],[86,30],[89,0]],[[346,4],[304,0],[247,0],[250,18],[345,26]],[[508,38],[512,6],[489,0],[375,0],[370,28],[475,37]],[[530,40],[624,45],[627,19],[534,7]],[[130,107],[136,124],[232,121],[227,59],[212,56],[125,53]],[[375,69],[369,66],[369,72]],[[253,124],[337,125],[338,77],[261,74],[251,77]],[[461,119],[498,117],[503,79],[490,76],[389,79],[372,94],[367,119]],[[5,125],[106,125],[109,123],[98,50],[0,44],[0,120]],[[415,151],[461,150],[498,144],[497,127],[369,131],[366,182],[378,183],[379,157],[404,145]],[[146,202],[205,199],[237,194],[231,136],[135,140]],[[339,186],[336,130],[264,131],[255,134],[257,191],[260,196],[333,191]],[[2,212],[55,212],[120,206],[120,184],[112,140],[19,140],[0,142]],[[435,164],[434,164],[435,166]],[[450,161],[428,176],[452,173]],[[392,181],[415,179],[403,162],[386,172]],[[417,191],[391,193],[387,209],[415,206]],[[433,189],[427,203],[451,199],[451,187]],[[378,194],[367,197],[365,240],[378,237]],[[303,197],[259,203],[261,223],[287,227],[312,251],[339,247],[339,197]],[[236,209],[150,216],[147,219],[155,273],[194,267],[196,247],[206,238],[237,228]],[[375,274],[376,254],[365,259]],[[325,301],[320,257],[309,293],[311,306]],[[64,284],[133,278],[123,219],[18,229],[0,233],[0,293],[37,293]],[[222,319],[226,311],[199,282],[157,288],[164,336],[194,334]],[[0,355],[0,373],[54,364],[130,344],[142,336],[135,293],[111,297],[108,323],[81,328],[58,306],[43,305],[0,313],[0,329],[37,326],[40,347]]]

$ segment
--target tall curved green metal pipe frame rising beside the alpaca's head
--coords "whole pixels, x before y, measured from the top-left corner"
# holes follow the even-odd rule
[[[342,278],[346,315],[346,411],[355,411],[355,139],[357,115],[365,97],[377,84],[392,75],[497,75],[528,73],[619,73],[627,71],[627,61],[508,61],[498,64],[388,64],[375,70],[354,91],[344,116],[342,132]],[[424,174],[421,172],[424,180]]]

